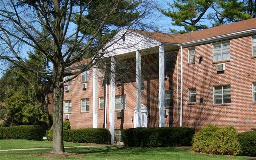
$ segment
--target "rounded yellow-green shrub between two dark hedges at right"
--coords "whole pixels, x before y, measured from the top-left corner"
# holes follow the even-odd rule
[[[238,155],[242,152],[234,127],[208,125],[194,135],[192,143],[193,149],[198,152],[222,155]]]

